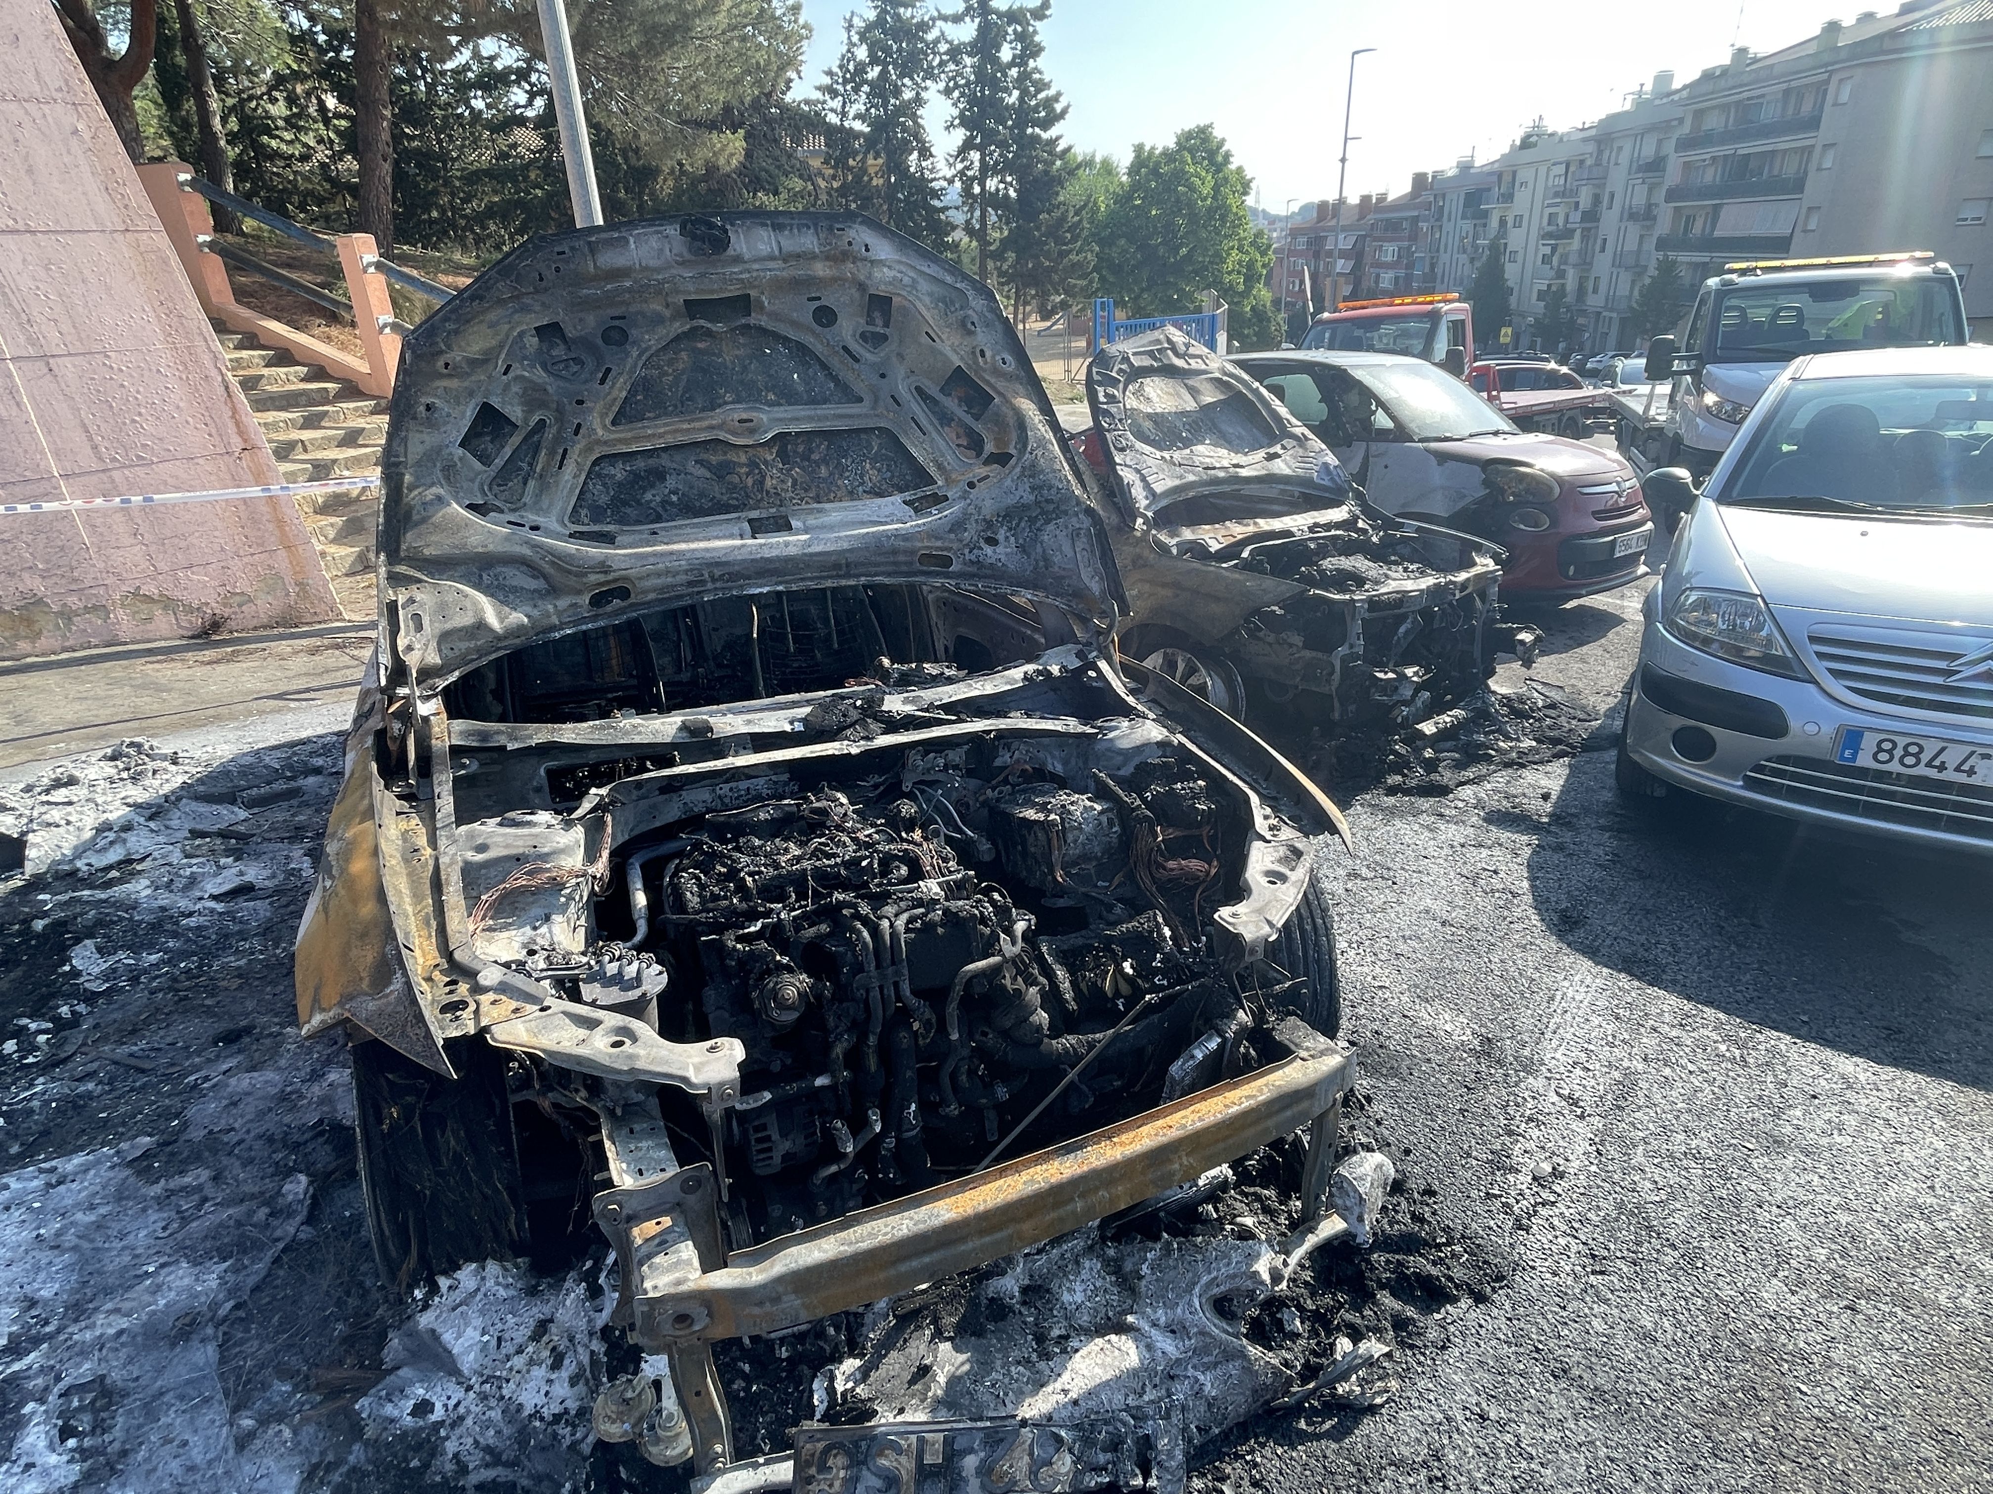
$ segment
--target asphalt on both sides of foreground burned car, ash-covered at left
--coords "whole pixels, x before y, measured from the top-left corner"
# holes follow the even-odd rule
[[[1431,1259],[1393,1277],[1399,1390],[1262,1418],[1194,1486],[1993,1488],[1987,865],[1622,807],[1638,590],[1545,622],[1588,751],[1359,797],[1331,853],[1355,1125]],[[0,773],[58,829],[134,805],[145,853],[0,886],[10,1490],[632,1486],[562,1448],[586,1283],[419,1325],[371,1285],[287,978],[337,719]]]

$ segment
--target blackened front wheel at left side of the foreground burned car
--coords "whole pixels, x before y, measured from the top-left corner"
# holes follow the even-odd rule
[[[504,1056],[476,1042],[450,1058],[454,1080],[385,1042],[353,1048],[367,1231],[381,1281],[397,1295],[470,1261],[526,1249]]]

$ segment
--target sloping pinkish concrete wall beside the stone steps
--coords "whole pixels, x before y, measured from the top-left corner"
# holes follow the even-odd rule
[[[46,0],[0,0],[0,502],[277,482]],[[0,657],[339,618],[289,498],[0,516]]]

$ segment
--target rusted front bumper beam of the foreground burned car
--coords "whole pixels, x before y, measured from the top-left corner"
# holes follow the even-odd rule
[[[1297,1131],[1335,1106],[1347,1056],[1293,1018],[1278,1032],[1293,1052],[1254,1074],[638,1295],[638,1343],[775,1333],[863,1307],[1054,1239]]]

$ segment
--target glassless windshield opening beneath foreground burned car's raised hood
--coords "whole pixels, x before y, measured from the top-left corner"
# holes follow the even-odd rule
[[[456,719],[606,721],[913,675],[951,679],[1068,637],[1062,620],[1026,600],[939,584],[765,592],[528,643],[468,671],[442,699]]]

